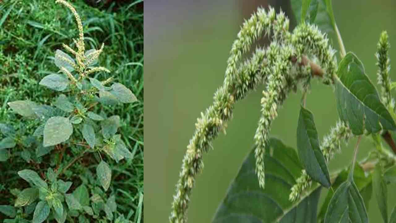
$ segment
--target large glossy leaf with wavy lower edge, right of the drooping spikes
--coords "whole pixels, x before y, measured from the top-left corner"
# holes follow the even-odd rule
[[[383,129],[396,130],[390,113],[381,103],[378,92],[364,73],[362,62],[348,52],[339,63],[335,77],[337,110],[341,120],[349,124],[354,135]]]

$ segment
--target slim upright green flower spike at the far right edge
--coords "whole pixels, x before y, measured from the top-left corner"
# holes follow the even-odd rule
[[[388,42],[388,33],[383,31],[377,44],[377,52],[375,53],[375,57],[377,58],[376,65],[378,66],[378,84],[381,85],[382,102],[386,107],[392,106],[393,108],[395,103],[392,95],[390,94],[390,60],[388,58],[389,48],[390,44]]]

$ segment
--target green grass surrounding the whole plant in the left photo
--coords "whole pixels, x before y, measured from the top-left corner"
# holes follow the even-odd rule
[[[105,43],[99,64],[111,73],[99,73],[98,79],[114,77],[132,90],[139,102],[105,107],[109,114],[120,115],[123,125],[120,132],[134,158],[120,163],[110,162],[112,169],[111,192],[116,194],[117,211],[133,222],[143,222],[143,10],[141,1],[123,6],[113,4],[106,9],[92,8],[84,1],[72,1],[82,17],[86,44],[98,48]],[[117,8],[117,10],[114,10]],[[78,36],[74,17],[55,0],[5,0],[0,5],[0,123],[12,123],[17,129],[25,128],[32,134],[35,120],[20,119],[7,106],[14,100],[33,100],[50,104],[54,93],[38,85],[49,73],[58,69],[53,63],[56,49],[61,43],[72,43]],[[25,127],[26,126],[26,127]],[[0,139],[2,136],[0,136]],[[13,151],[14,152],[14,151]],[[15,153],[22,151],[15,151]],[[21,169],[45,170],[55,167],[60,151],[53,150],[34,165],[13,157],[0,162],[0,205],[13,204],[11,189],[27,186],[17,175]],[[72,160],[76,151],[65,152],[64,160]],[[84,181],[84,174],[95,172],[95,155],[84,156],[65,173],[74,188]],[[110,160],[109,160],[110,161]],[[72,187],[73,187],[72,186]],[[74,189],[71,188],[71,189]],[[0,219],[6,216],[0,213]]]

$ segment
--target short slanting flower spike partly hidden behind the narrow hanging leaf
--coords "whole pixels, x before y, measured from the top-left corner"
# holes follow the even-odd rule
[[[351,137],[352,130],[343,121],[337,121],[337,124],[331,129],[330,133],[324,136],[322,145],[320,146],[327,164],[333,159],[336,153],[341,152],[341,142],[344,141],[347,143]],[[303,170],[301,176],[296,180],[296,184],[290,189],[289,200],[292,202],[296,201],[311,184],[312,179]]]

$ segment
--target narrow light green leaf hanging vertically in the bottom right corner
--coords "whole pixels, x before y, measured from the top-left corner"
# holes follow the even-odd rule
[[[373,173],[373,191],[377,199],[379,211],[381,212],[384,222],[388,222],[388,190],[382,175],[381,165],[377,164]]]

